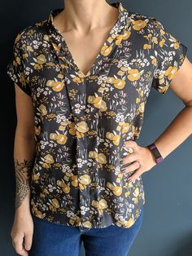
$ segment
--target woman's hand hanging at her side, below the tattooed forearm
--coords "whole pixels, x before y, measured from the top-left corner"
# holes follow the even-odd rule
[[[15,211],[11,238],[15,252],[27,256],[33,241],[33,218],[30,212],[22,210],[21,207],[20,210]]]

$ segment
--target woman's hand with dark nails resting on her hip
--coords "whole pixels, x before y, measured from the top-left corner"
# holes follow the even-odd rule
[[[151,170],[153,166],[156,165],[155,157],[153,156],[151,150],[147,147],[139,146],[135,141],[129,140],[124,142],[125,148],[132,148],[132,152],[126,157],[121,158],[120,163],[123,168],[123,173],[128,173],[134,171],[134,173],[129,176],[129,181],[134,181],[144,172]],[[132,163],[133,162],[133,163]],[[125,164],[128,164],[126,166]]]

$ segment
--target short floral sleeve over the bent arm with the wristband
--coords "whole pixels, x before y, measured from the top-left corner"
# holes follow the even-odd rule
[[[165,94],[185,60],[187,47],[164,29],[159,20],[152,19],[152,42],[155,49],[153,57],[156,60],[156,68],[151,86],[159,93]]]

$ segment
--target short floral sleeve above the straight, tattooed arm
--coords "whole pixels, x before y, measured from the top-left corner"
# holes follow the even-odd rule
[[[26,76],[27,58],[24,38],[19,33],[15,38],[11,60],[7,64],[7,74],[27,95],[31,96],[30,84]]]

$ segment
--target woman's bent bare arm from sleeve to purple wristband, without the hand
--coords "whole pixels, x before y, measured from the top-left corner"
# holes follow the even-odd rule
[[[185,108],[155,140],[162,157],[167,157],[170,152],[192,135],[192,64],[187,57],[172,79],[169,88],[182,100]]]

